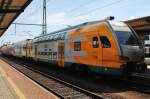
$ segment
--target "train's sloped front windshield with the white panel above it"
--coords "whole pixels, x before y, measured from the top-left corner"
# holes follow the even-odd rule
[[[138,38],[134,31],[130,29],[130,27],[123,22],[110,22],[117,41],[120,45],[131,45],[138,46],[140,45]]]

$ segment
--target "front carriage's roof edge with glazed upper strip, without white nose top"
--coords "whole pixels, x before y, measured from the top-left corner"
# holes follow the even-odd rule
[[[107,22],[107,20],[101,20],[101,21],[92,21],[92,22],[85,22],[76,26],[71,26],[65,29],[61,29],[58,31],[54,31],[45,35],[41,35],[38,37],[34,38],[34,42],[38,43],[38,42],[44,42],[44,41],[48,41],[48,40],[64,40],[65,38],[65,34],[67,33],[67,31],[72,30],[72,29],[77,29],[77,28],[81,28],[87,25],[91,25],[91,24],[96,24],[99,22]]]

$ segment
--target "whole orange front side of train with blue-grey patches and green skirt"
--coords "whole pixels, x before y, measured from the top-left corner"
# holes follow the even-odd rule
[[[68,33],[65,61],[68,64],[88,66],[101,73],[121,73],[120,51],[106,23],[94,24]]]

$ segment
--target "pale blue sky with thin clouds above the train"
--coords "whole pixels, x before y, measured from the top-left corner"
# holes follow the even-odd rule
[[[33,0],[14,21],[42,24],[43,0]],[[114,16],[125,21],[150,16],[150,0],[47,0],[47,32],[60,30],[80,23],[102,20]],[[0,45],[32,39],[41,35],[41,26],[11,25],[0,37]]]

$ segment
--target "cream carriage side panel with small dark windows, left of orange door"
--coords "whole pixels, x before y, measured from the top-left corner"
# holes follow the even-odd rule
[[[37,51],[35,58],[39,61],[57,64],[58,62],[58,41],[45,41],[35,44]]]

